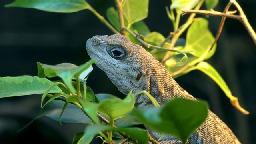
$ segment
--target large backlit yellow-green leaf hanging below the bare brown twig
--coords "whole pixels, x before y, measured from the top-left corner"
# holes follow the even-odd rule
[[[209,48],[212,46],[215,38],[212,36],[212,33],[208,29],[208,21],[204,18],[201,18],[199,21],[194,21],[191,26],[188,28],[186,36],[186,46],[184,50],[194,50],[195,53],[192,53],[196,57],[200,57],[208,51],[204,59],[210,58],[215,50],[216,44],[209,51]]]

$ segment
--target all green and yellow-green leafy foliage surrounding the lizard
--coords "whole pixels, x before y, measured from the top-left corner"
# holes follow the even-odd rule
[[[172,76],[178,77],[192,70],[200,70],[212,78],[230,100],[236,99],[218,72],[204,61],[211,58],[216,50],[216,44],[210,50],[214,37],[208,30],[208,21],[191,14],[186,23],[181,26],[179,24],[182,9],[199,10],[205,2],[209,10],[218,4],[218,0],[172,0],[170,9],[166,8],[166,12],[173,24],[173,32],[167,37],[158,32],[150,32],[142,21],[148,16],[149,0],[115,2],[116,8],[110,7],[106,11],[109,22],[85,0],[16,0],[6,7],[36,8],[61,13],[88,9],[113,33],[124,34],[132,42],[138,44],[139,41],[148,47],[147,50],[164,64]],[[180,38],[185,30],[188,30],[186,40]],[[144,41],[137,38],[134,32],[144,35]],[[130,92],[124,100],[110,94],[95,95],[86,86],[86,77],[94,62],[95,60],[90,60],[81,66],[69,63],[52,66],[38,62],[38,76],[0,78],[0,98],[43,94],[42,111],[36,118],[48,116],[60,124],[92,124],[84,132],[78,132],[74,136],[73,143],[83,144],[90,143],[95,134],[100,134],[104,142],[111,142],[114,131],[119,133],[116,137],[146,144],[149,140],[146,131],[129,127],[142,123],[185,142],[207,117],[205,102],[175,99],[159,108],[139,110],[134,108],[134,96],[137,94]],[[61,80],[51,82],[46,76],[59,77]],[[158,106],[156,100],[150,94],[147,95]],[[43,105],[46,97],[48,101]]]

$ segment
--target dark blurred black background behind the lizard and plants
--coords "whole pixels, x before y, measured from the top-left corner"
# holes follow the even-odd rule
[[[10,0],[0,1],[0,77],[37,75],[36,62],[60,64],[69,62],[81,65],[90,58],[85,44],[94,35],[113,34],[89,10],[70,14],[44,12],[36,9],[5,8]],[[106,9],[115,6],[113,0],[88,0],[106,18]],[[151,31],[168,36],[172,24],[165,6],[170,0],[150,1],[148,18],[144,20]],[[256,1],[238,0],[248,21],[256,29]],[[223,11],[228,0],[220,0],[217,11]],[[234,10],[234,6],[230,8]],[[187,15],[188,16],[188,15]],[[180,24],[186,20],[181,18]],[[218,30],[219,17],[209,17],[213,35]],[[185,38],[185,34],[182,37]],[[256,46],[244,26],[233,19],[226,19],[217,43],[216,54],[209,62],[224,78],[232,94],[239,98],[240,105],[250,112],[245,116],[231,106],[217,84],[200,71],[176,78],[190,94],[205,99],[210,109],[218,115],[244,143],[256,143]],[[88,85],[95,93],[110,93],[123,97],[108,77],[94,65]],[[0,143],[71,143],[76,132],[83,131],[82,124],[60,126],[49,118],[40,118],[21,132],[16,132],[38,112],[41,95],[0,99]]]

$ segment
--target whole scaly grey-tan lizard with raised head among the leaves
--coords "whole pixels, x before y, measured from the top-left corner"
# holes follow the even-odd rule
[[[112,83],[124,94],[131,90],[150,93],[159,104],[174,98],[197,100],[172,78],[166,68],[141,46],[132,43],[126,36],[94,36],[87,40],[86,50],[96,66],[103,70]],[[136,108],[153,106],[146,94],[135,97]],[[162,135],[145,126],[152,138]],[[165,134],[161,144],[182,144],[182,141]],[[228,126],[208,110],[206,121],[188,138],[190,144],[240,144]]]

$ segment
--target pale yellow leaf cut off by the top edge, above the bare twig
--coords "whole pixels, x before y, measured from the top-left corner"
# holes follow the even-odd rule
[[[176,9],[177,13],[180,13],[181,9],[184,10],[191,10],[198,4],[199,0],[171,0],[172,4],[170,9]]]

